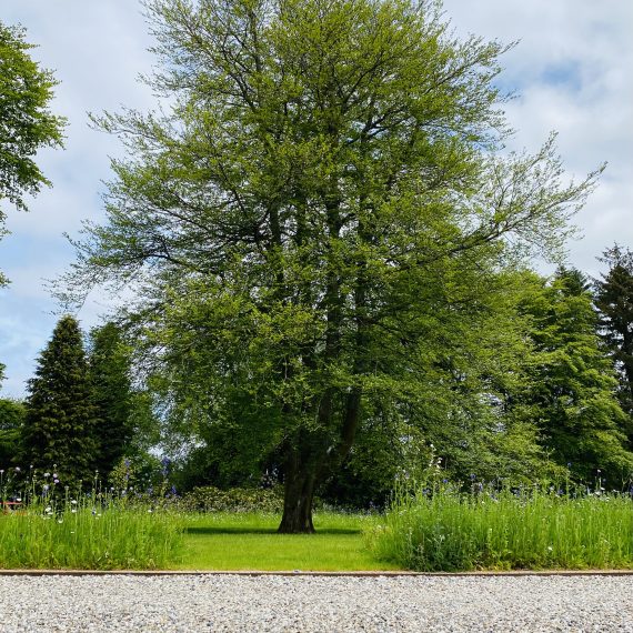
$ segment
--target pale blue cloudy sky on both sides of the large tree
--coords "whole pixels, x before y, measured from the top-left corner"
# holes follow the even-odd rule
[[[551,130],[569,175],[582,178],[606,161],[601,185],[576,223],[584,239],[569,245],[570,263],[597,274],[595,258],[615,241],[633,248],[633,2],[629,0],[444,0],[458,34],[520,40],[504,59],[503,87],[518,93],[506,107],[516,129],[513,149],[535,151]],[[33,57],[61,81],[53,109],[69,120],[66,150],[42,152],[53,182],[29,213],[8,209],[11,235],[0,243],[0,270],[12,281],[0,290],[0,395],[21,396],[34,359],[54,326],[56,303],[43,280],[73,259],[63,233],[82,219],[102,217],[109,157],[115,139],[91,130],[87,112],[122,105],[147,110],[153,99],[137,81],[153,58],[137,0],[1,0],[0,20],[21,23]],[[99,297],[77,314],[84,329],[99,322]]]

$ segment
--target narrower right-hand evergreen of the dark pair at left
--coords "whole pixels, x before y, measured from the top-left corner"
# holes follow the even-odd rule
[[[99,423],[97,464],[107,475],[129,449],[132,438],[132,393],[130,354],[114,323],[105,323],[90,332],[90,380]]]

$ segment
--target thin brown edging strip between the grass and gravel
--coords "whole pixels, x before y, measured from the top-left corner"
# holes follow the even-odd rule
[[[626,576],[633,575],[633,570],[543,570],[543,571],[484,571],[484,572],[409,572],[409,571],[359,571],[359,572],[311,572],[293,571],[209,571],[209,570],[0,570],[2,576],[350,576],[350,577],[380,577],[380,576],[422,576],[422,577],[461,577],[461,576]]]

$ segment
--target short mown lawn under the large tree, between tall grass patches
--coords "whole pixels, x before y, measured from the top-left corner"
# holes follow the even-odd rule
[[[376,562],[363,530],[375,516],[316,513],[316,534],[277,534],[275,514],[201,514],[188,519],[182,560],[177,570],[368,571],[398,570]]]

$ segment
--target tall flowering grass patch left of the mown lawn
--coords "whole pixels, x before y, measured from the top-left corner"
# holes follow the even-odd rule
[[[179,559],[184,524],[174,512],[33,480],[12,499],[21,505],[0,509],[2,569],[161,569]]]

